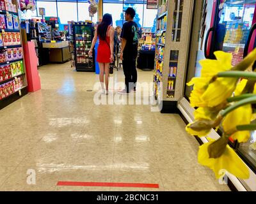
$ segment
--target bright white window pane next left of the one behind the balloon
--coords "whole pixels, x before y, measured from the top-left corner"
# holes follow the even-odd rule
[[[77,3],[76,2],[58,2],[58,17],[61,24],[67,24],[68,21],[77,21]]]

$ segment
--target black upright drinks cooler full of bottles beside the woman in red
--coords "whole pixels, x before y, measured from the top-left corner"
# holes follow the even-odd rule
[[[95,71],[94,53],[88,52],[93,40],[92,21],[73,22],[74,58],[76,71]]]

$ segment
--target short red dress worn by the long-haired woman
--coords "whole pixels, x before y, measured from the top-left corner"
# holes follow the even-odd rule
[[[108,27],[109,29],[109,27]],[[108,31],[107,31],[108,33]],[[107,43],[108,42],[108,43]],[[106,36],[106,40],[100,39],[99,47],[97,50],[97,62],[110,63],[110,37]]]

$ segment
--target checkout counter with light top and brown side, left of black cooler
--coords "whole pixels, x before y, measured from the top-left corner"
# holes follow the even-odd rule
[[[63,63],[71,59],[68,41],[56,41],[56,43],[42,43],[44,49],[49,49],[49,62]]]

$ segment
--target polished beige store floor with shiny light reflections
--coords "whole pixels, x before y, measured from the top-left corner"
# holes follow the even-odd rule
[[[152,112],[149,105],[96,105],[98,77],[77,73],[70,62],[39,73],[42,90],[0,110],[0,191],[229,191],[197,163],[198,142],[179,115]],[[113,84],[124,81],[122,69],[111,77]],[[138,70],[139,82],[152,78],[152,71]]]

